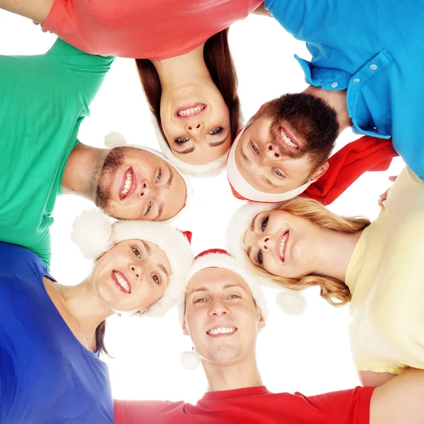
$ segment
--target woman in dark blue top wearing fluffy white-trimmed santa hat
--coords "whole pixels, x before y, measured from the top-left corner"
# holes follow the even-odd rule
[[[184,293],[189,241],[165,223],[85,211],[73,241],[93,270],[73,286],[28,249],[0,242],[0,422],[113,423],[105,320],[160,316]]]

